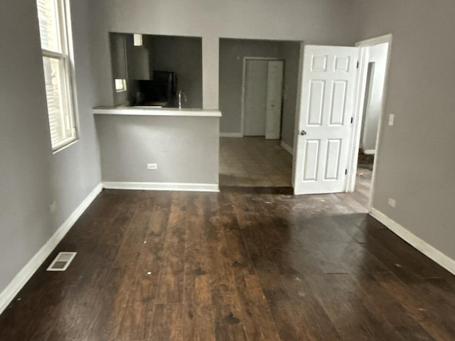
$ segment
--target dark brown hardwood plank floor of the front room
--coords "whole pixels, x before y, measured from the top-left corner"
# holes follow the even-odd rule
[[[105,190],[0,340],[455,340],[454,276],[365,214],[361,180],[352,195]],[[59,251],[77,256],[45,271]]]

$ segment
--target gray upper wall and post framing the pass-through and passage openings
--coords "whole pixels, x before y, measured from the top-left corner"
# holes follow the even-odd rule
[[[96,104],[112,105],[108,31],[203,38],[203,107],[218,109],[219,38],[353,45],[352,0],[90,1]]]

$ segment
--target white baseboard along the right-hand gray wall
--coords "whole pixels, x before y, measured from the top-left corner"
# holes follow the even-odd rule
[[[422,254],[429,257],[433,261],[437,262],[440,266],[442,266],[447,271],[455,274],[455,260],[451,259],[449,256],[446,256],[438,249],[435,249],[427,242],[424,242],[422,239],[417,237],[415,234],[412,234],[409,230],[402,227],[400,224],[395,222],[394,220],[387,217],[384,213],[376,210],[375,208],[371,209],[372,217],[385,224],[385,226],[390,229],[392,232],[397,234],[398,237],[405,240],[405,242],[412,245],[412,247],[416,248]]]

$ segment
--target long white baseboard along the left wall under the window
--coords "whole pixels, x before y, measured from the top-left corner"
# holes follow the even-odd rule
[[[33,256],[30,261],[24,266],[21,271],[13,278],[8,286],[0,293],[0,314],[8,307],[9,303],[13,301],[14,297],[21,291],[21,288],[26,285],[27,281],[35,274],[36,270],[43,264],[50,253],[55,249],[58,243],[65,237],[73,224],[87,209],[87,207],[95,200],[98,194],[102,190],[102,185],[97,185],[92,192],[85,197],[84,201],[74,210],[74,212],[68,217],[63,224],[58,228],[52,237],[46,242],[43,247]]]

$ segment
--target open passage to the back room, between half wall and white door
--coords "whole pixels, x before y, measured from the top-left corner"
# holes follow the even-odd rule
[[[297,41],[220,38],[220,186],[291,187],[300,45]],[[269,70],[272,65],[276,68]],[[245,71],[250,74],[255,67],[262,70],[257,77],[259,87],[247,85],[245,96]],[[272,89],[267,84],[270,73],[280,76],[270,82],[275,86]],[[257,114],[252,117],[244,112],[250,89],[262,97],[259,104],[250,104]],[[269,96],[267,101],[267,92],[280,96],[275,102]],[[267,102],[269,108],[277,109],[271,125],[275,129],[267,129]],[[273,130],[274,136],[267,130]]]

